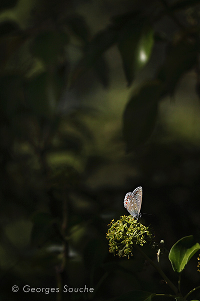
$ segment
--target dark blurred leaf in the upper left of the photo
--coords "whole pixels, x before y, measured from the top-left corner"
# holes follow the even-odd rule
[[[63,32],[46,31],[38,34],[32,41],[32,54],[41,59],[46,65],[53,66],[58,56],[63,53],[68,43],[68,36]]]

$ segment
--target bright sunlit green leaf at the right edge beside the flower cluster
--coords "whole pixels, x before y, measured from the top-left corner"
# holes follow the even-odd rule
[[[185,236],[178,240],[170,249],[168,258],[174,271],[180,273],[189,259],[200,249],[193,236]]]

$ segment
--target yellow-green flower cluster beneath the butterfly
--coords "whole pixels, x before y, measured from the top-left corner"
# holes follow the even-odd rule
[[[123,215],[116,222],[112,220],[108,226],[106,238],[109,240],[109,252],[119,257],[132,256],[133,243],[142,246],[154,239],[152,229],[137,222],[131,215]]]

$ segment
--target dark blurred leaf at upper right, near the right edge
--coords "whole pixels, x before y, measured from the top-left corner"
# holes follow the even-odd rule
[[[193,39],[191,41],[183,39],[170,49],[157,77],[163,81],[164,93],[173,94],[180,77],[197,62],[197,55]]]

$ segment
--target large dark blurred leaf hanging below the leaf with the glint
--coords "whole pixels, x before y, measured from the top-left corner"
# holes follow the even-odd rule
[[[151,81],[130,98],[123,114],[123,138],[127,151],[144,143],[152,133],[160,94],[160,82]]]

